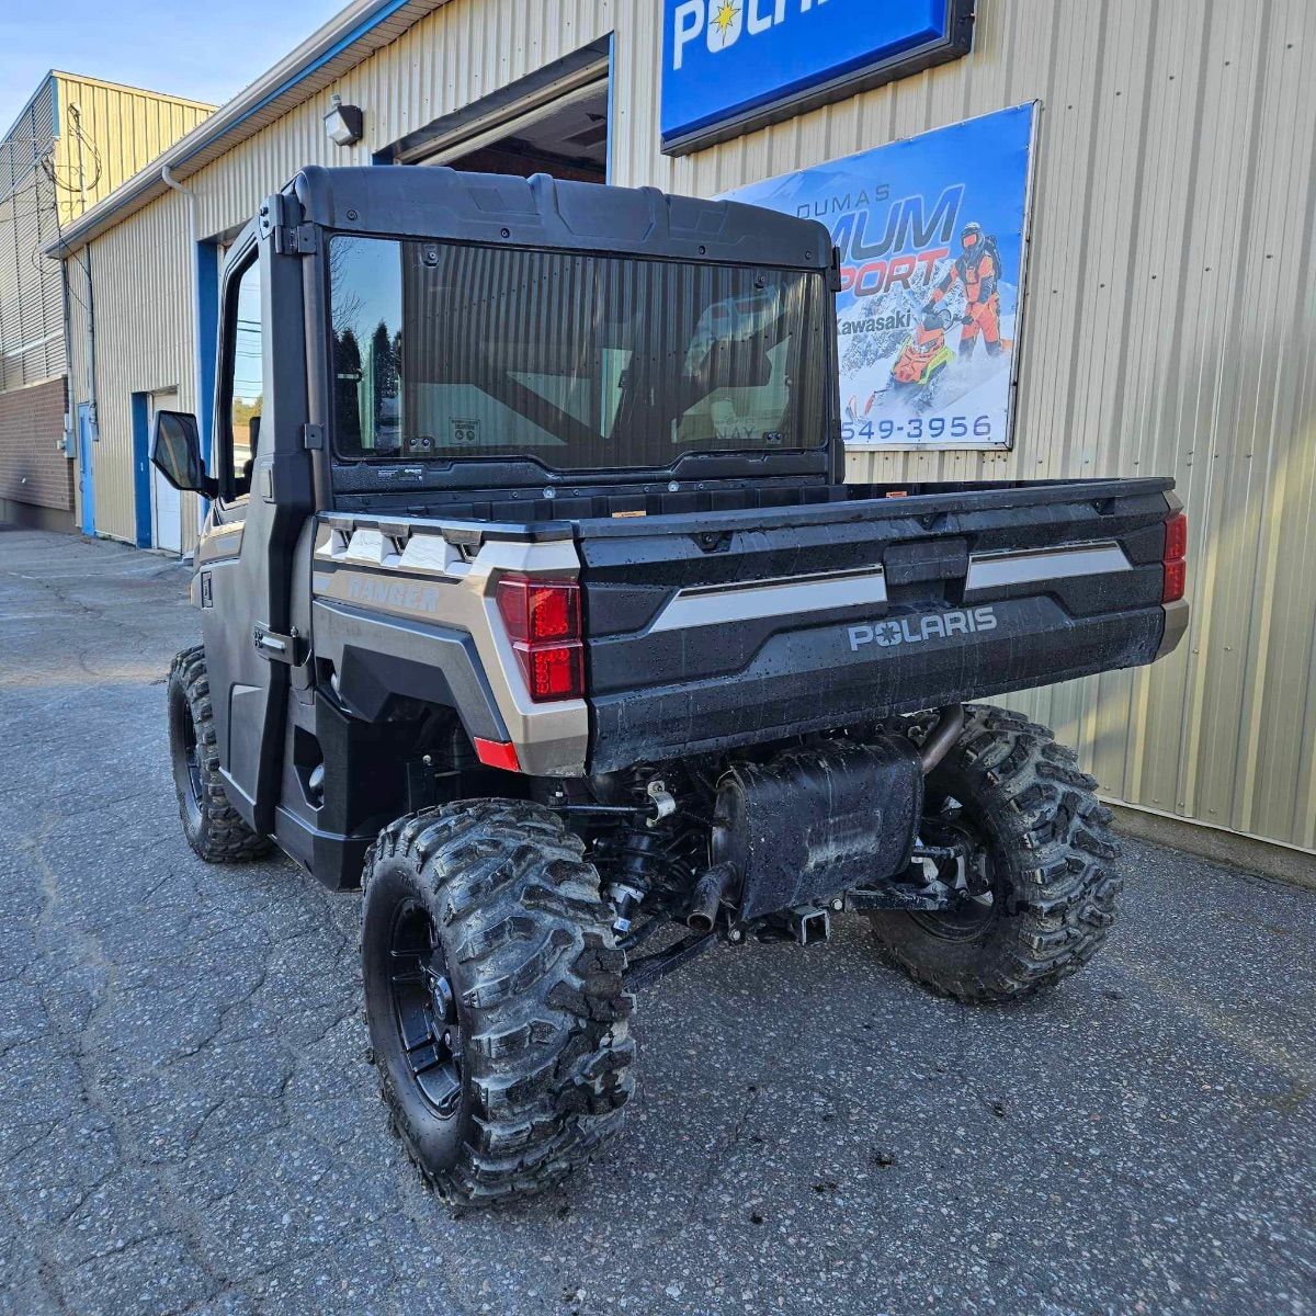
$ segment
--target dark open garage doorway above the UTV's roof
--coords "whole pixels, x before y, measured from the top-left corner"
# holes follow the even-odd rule
[[[611,42],[596,42],[399,142],[384,159],[607,183]]]

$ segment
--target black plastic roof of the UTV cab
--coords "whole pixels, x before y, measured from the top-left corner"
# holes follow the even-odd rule
[[[284,188],[303,220],[347,233],[611,251],[805,270],[832,263],[815,220],[737,201],[667,196],[536,174],[466,174],[384,164],[304,168]]]

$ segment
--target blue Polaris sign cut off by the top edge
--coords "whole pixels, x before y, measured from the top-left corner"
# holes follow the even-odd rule
[[[955,59],[973,22],[974,0],[663,0],[663,150]]]

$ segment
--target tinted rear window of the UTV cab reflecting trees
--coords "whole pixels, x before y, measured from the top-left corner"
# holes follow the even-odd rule
[[[825,442],[820,272],[346,236],[329,251],[341,458],[667,467]]]

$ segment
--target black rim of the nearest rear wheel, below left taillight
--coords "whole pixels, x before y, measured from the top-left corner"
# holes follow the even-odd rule
[[[388,990],[412,1082],[434,1115],[450,1120],[462,1108],[462,1025],[434,924],[415,900],[393,917]]]

